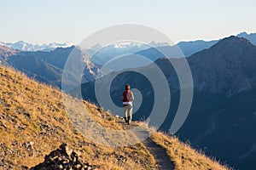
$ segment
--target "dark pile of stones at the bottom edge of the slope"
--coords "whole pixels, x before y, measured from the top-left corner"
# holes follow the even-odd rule
[[[44,157],[43,163],[31,168],[31,170],[48,169],[90,170],[99,169],[99,167],[84,162],[78,153],[67,147],[67,144],[61,144],[59,149],[51,151],[48,156]]]

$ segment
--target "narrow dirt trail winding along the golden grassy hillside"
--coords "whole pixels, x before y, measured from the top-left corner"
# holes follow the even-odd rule
[[[134,122],[131,122],[131,125],[127,125],[124,120],[119,119],[117,121],[120,125],[122,125],[125,129],[136,127]],[[148,137],[143,141],[143,144],[148,149],[150,154],[154,156],[155,164],[158,169],[161,170],[172,170],[175,169],[174,162],[171,161],[169,156],[166,153],[166,149],[161,147],[159,144],[155,144],[154,140]]]

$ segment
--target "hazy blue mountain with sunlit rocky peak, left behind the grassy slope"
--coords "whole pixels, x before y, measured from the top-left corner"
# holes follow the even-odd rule
[[[99,69],[79,48],[56,48],[50,52],[26,52],[0,46],[0,61],[5,65],[26,73],[39,82],[48,83],[61,88],[62,72],[69,54],[75,53],[85,64],[84,82],[95,80]],[[75,67],[74,67],[75,68]],[[72,73],[70,73],[72,76]]]

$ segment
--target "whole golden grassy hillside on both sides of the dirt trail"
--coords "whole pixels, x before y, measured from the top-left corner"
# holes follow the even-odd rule
[[[62,143],[78,150],[84,161],[100,169],[158,168],[158,160],[143,143],[111,148],[84,139],[68,120],[57,89],[3,66],[0,78],[0,169],[33,167]],[[96,105],[84,102],[84,106],[102,126],[125,128],[119,123],[121,120]],[[150,140],[166,150],[177,169],[226,168],[175,137],[154,133]]]

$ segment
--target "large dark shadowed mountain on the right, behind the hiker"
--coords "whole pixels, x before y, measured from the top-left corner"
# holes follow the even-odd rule
[[[256,142],[253,127],[256,123],[255,59],[256,46],[245,38],[233,36],[190,56],[188,63],[194,83],[193,103],[186,122],[177,132],[183,141],[189,139],[195,148],[205,148],[208,155],[239,169],[256,166],[252,161],[256,158],[253,151]],[[154,63],[164,72],[172,94],[168,116],[161,126],[167,131],[179,105],[180,87],[177,73],[168,59],[157,59]],[[154,105],[154,88],[147,78],[137,72],[150,72],[151,69],[152,65],[148,65],[122,72],[111,84],[110,94],[116,105],[120,105],[119,95],[125,83],[140,91],[143,101],[134,114],[137,120],[147,118],[152,111],[150,106]],[[105,78],[108,80],[108,76]],[[84,99],[96,103],[94,88],[93,82],[85,83],[82,93]]]

